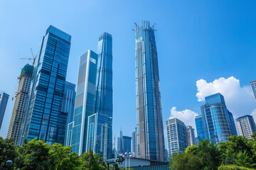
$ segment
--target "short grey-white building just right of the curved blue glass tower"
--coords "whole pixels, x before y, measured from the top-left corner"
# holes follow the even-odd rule
[[[243,115],[240,118],[237,118],[236,121],[238,123],[240,136],[252,139],[252,133],[256,132],[256,125],[252,115]]]

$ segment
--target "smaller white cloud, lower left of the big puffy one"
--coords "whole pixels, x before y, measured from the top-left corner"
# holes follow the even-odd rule
[[[183,121],[185,125],[191,125],[196,130],[196,124],[195,124],[195,117],[198,114],[191,110],[184,110],[184,111],[177,111],[176,107],[171,108],[171,116],[170,118],[178,118],[179,120]]]

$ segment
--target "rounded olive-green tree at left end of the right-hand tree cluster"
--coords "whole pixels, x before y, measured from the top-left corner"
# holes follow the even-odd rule
[[[171,169],[198,170],[203,166],[201,158],[192,153],[181,152],[172,157]]]

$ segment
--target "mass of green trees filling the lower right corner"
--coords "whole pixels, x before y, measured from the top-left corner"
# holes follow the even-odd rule
[[[256,132],[252,139],[234,135],[219,145],[201,140],[198,146],[188,146],[185,152],[174,154],[169,159],[169,169],[256,169]]]

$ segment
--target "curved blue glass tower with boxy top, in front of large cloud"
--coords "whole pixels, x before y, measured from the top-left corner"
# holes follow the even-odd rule
[[[220,93],[206,96],[201,112],[206,139],[216,143],[227,142],[228,137],[237,135],[233,115]]]

